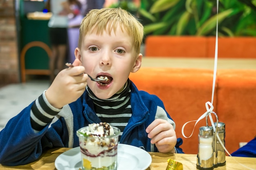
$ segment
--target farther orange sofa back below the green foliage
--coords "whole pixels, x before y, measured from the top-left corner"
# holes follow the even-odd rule
[[[216,37],[147,36],[146,57],[214,57]],[[219,37],[218,57],[256,58],[256,37]]]

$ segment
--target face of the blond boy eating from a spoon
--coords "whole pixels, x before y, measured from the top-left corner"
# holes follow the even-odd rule
[[[126,31],[122,32],[120,26],[111,35],[106,32],[85,35],[75,55],[90,76],[108,76],[107,82],[97,83],[90,78],[87,81],[92,92],[101,99],[110,98],[121,90],[130,72],[139,70],[142,59],[142,54],[135,53],[132,38]]]

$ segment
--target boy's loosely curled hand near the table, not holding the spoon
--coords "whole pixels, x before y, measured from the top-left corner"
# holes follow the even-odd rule
[[[154,120],[146,129],[151,144],[161,153],[175,153],[177,137],[173,125],[163,119]]]

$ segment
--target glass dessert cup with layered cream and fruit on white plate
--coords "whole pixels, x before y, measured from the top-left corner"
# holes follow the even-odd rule
[[[89,126],[76,132],[82,157],[82,170],[117,170],[117,144],[120,129],[112,127],[109,136],[86,135]]]

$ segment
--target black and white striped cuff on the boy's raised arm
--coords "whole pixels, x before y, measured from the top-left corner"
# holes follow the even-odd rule
[[[46,90],[35,100],[30,110],[31,126],[36,133],[45,128],[49,122],[52,122],[54,116],[61,111],[48,102],[45,92]]]

